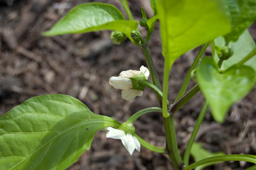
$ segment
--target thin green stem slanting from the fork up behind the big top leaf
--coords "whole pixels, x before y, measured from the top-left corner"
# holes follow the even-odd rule
[[[197,57],[195,58],[193,64],[191,65],[189,71],[187,72],[186,78],[185,78],[185,80],[184,80],[184,82],[181,86],[181,90],[180,90],[180,92],[179,92],[175,101],[177,101],[179,98],[181,98],[181,96],[184,95],[184,93],[187,89],[187,85],[190,81],[191,72],[197,67],[197,64],[198,64],[200,58],[203,56],[203,53],[205,52],[207,47],[210,45],[210,43],[211,43],[211,41],[203,44],[202,48],[200,49],[199,53],[197,54]]]

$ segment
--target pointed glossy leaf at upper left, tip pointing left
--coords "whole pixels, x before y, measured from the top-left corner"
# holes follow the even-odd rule
[[[72,9],[45,36],[87,33],[101,29],[117,30],[131,36],[138,26],[136,21],[126,21],[123,14],[114,6],[103,3],[86,3]]]

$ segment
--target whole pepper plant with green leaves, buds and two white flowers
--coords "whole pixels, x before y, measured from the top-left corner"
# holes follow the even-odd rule
[[[156,94],[159,107],[145,108],[119,123],[92,113],[82,102],[67,95],[43,95],[31,98],[0,117],[1,170],[65,170],[90,148],[95,132],[120,139],[130,154],[149,150],[166,154],[176,170],[191,170],[220,161],[256,163],[256,155],[205,154],[194,143],[197,131],[210,106],[211,115],[223,123],[230,106],[243,98],[256,82],[256,46],[247,28],[256,18],[256,0],[150,0],[154,16],[134,20],[126,0],[120,0],[129,20],[114,6],[104,3],[80,4],[64,16],[45,36],[113,30],[112,42],[126,38],[144,52],[147,67],[114,75],[109,83],[121,89],[125,100],[143,95],[144,88]],[[164,80],[161,85],[148,42],[159,20]],[[142,37],[138,24],[147,31]],[[187,73],[173,104],[168,101],[170,70],[182,54],[202,45]],[[203,57],[210,46],[212,56]],[[174,71],[175,72],[175,71]],[[147,79],[151,76],[152,82]],[[187,89],[190,78],[196,82]],[[187,91],[187,92],[186,92]],[[178,151],[174,126],[175,113],[197,92],[206,98],[185,153]],[[169,94],[170,95],[170,94]],[[144,114],[163,115],[166,147],[155,147],[135,134],[134,122]],[[203,154],[201,154],[203,153]],[[195,162],[189,164],[190,154]],[[209,155],[212,155],[209,157]],[[256,165],[247,170],[256,169]]]

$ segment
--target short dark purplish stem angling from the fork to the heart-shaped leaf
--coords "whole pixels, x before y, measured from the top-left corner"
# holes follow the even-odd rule
[[[170,114],[176,113],[183,105],[187,103],[194,95],[196,95],[200,91],[198,84],[194,85],[185,95],[179,98],[174,104],[170,106]]]

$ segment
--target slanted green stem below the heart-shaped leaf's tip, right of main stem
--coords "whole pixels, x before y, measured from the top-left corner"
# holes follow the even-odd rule
[[[188,165],[189,156],[190,156],[190,150],[191,150],[192,144],[195,141],[197,132],[198,132],[199,127],[200,127],[200,125],[201,125],[201,123],[203,121],[203,118],[204,118],[205,114],[206,114],[208,106],[209,106],[208,105],[208,101],[205,101],[204,104],[203,104],[203,108],[202,108],[202,110],[201,110],[201,112],[199,114],[199,117],[197,119],[197,123],[196,123],[196,125],[194,127],[194,130],[193,130],[193,132],[192,132],[192,134],[190,136],[190,139],[189,139],[189,141],[187,143],[187,148],[185,150],[184,157],[183,157],[185,165]]]

